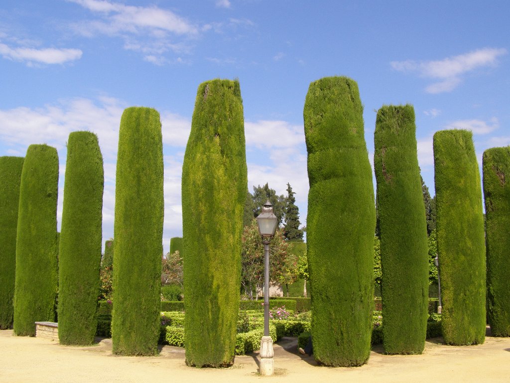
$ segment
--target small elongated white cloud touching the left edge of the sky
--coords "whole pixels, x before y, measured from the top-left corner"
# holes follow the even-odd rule
[[[56,49],[43,48],[35,49],[30,47],[12,48],[6,44],[0,43],[0,54],[7,59],[41,64],[63,64],[69,61],[79,60],[83,52],[79,49]]]

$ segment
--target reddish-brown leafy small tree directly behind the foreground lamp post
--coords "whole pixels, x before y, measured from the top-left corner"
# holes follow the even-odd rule
[[[264,245],[256,220],[251,220],[243,230],[241,254],[241,285],[250,299],[257,299],[253,292],[258,292],[264,284]],[[283,230],[276,229],[270,244],[271,254],[269,278],[271,283],[286,283],[297,277],[297,259],[289,252],[289,243],[285,241]],[[294,267],[294,264],[296,266]],[[289,276],[290,275],[290,276]],[[289,279],[287,279],[289,278]],[[292,282],[290,282],[292,283]]]

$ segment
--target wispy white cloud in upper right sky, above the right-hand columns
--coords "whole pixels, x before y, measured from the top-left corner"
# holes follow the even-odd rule
[[[503,48],[483,48],[463,55],[451,56],[432,61],[392,61],[393,69],[403,73],[417,73],[419,76],[439,81],[429,84],[427,93],[443,93],[455,89],[462,82],[462,75],[477,68],[494,66],[500,56],[507,53]]]

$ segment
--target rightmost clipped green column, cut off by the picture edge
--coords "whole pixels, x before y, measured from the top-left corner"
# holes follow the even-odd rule
[[[510,337],[510,147],[483,153],[487,309],[492,335]]]

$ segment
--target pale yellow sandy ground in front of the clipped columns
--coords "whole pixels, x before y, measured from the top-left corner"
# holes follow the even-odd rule
[[[296,351],[296,339],[274,347],[275,375],[258,374],[258,354],[236,356],[227,369],[190,368],[184,349],[165,346],[159,356],[113,355],[111,340],[93,347],[15,337],[0,331],[0,382],[509,382],[510,338],[487,337],[483,345],[453,347],[427,341],[422,355],[384,355],[372,349],[368,364],[356,368],[319,367]]]

